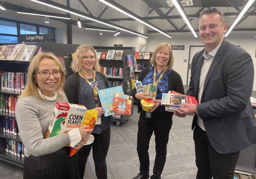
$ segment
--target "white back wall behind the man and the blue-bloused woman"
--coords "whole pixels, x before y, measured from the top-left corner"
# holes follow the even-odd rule
[[[254,36],[255,32],[231,32],[226,40],[235,45],[240,45],[240,47],[245,49],[252,56],[255,71],[254,81],[256,81],[256,38]],[[167,42],[171,45],[185,45],[185,50],[173,50],[173,69],[180,74],[183,84],[185,85],[187,81],[188,63],[183,63],[183,59],[188,59],[190,46],[204,44],[201,42],[200,38],[194,38],[192,33],[173,33],[172,38],[166,38],[161,34],[150,34],[149,51],[154,51],[155,47],[162,42]],[[256,90],[256,82],[253,84],[253,90]]]

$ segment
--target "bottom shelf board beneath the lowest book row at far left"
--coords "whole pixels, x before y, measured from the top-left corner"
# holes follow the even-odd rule
[[[24,158],[14,156],[13,154],[5,151],[0,153],[0,160],[21,168],[24,167]]]

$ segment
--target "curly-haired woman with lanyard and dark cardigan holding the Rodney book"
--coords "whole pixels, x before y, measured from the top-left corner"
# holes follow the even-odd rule
[[[113,117],[104,116],[104,109],[98,98],[98,90],[108,88],[107,77],[98,72],[99,60],[91,45],[77,47],[71,68],[75,73],[68,77],[64,85],[64,91],[70,103],[82,104],[88,110],[96,109],[98,118],[92,135],[94,142],[83,146],[78,152],[78,167],[80,179],[84,178],[85,164],[93,149],[95,172],[98,179],[107,179],[106,157],[110,144],[110,125]]]

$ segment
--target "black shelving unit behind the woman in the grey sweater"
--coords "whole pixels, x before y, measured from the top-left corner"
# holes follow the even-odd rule
[[[14,43],[15,44],[15,43]],[[30,45],[36,45],[37,50],[34,54],[37,54],[40,47],[42,51],[53,52],[55,55],[63,55],[65,66],[66,66],[66,77],[73,74],[73,71],[70,66],[70,62],[72,61],[71,54],[75,52],[76,48],[79,45],[72,44],[61,44],[61,43],[29,43]],[[4,45],[4,44],[0,44]],[[0,71],[1,72],[27,72],[30,62],[27,61],[15,61],[15,60],[0,60]],[[9,92],[9,91],[0,91],[0,94],[14,95],[18,96],[19,94]],[[15,118],[15,114],[0,112],[0,160],[10,163],[12,165],[23,168],[24,166],[24,158],[17,157],[11,153],[5,152],[6,139],[10,139],[13,141],[22,142],[20,136],[15,136],[13,134],[9,134],[7,132],[3,132],[4,128],[4,117]]]

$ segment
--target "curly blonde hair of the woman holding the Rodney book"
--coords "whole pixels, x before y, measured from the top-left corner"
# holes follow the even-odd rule
[[[77,50],[74,53],[74,58],[71,62],[71,68],[73,69],[74,72],[81,71],[82,56],[85,55],[85,53],[89,50],[94,52],[94,56],[95,56],[94,70],[96,72],[100,71],[99,60],[98,60],[98,56],[96,55],[94,47],[91,45],[81,45],[81,46],[77,47]]]

